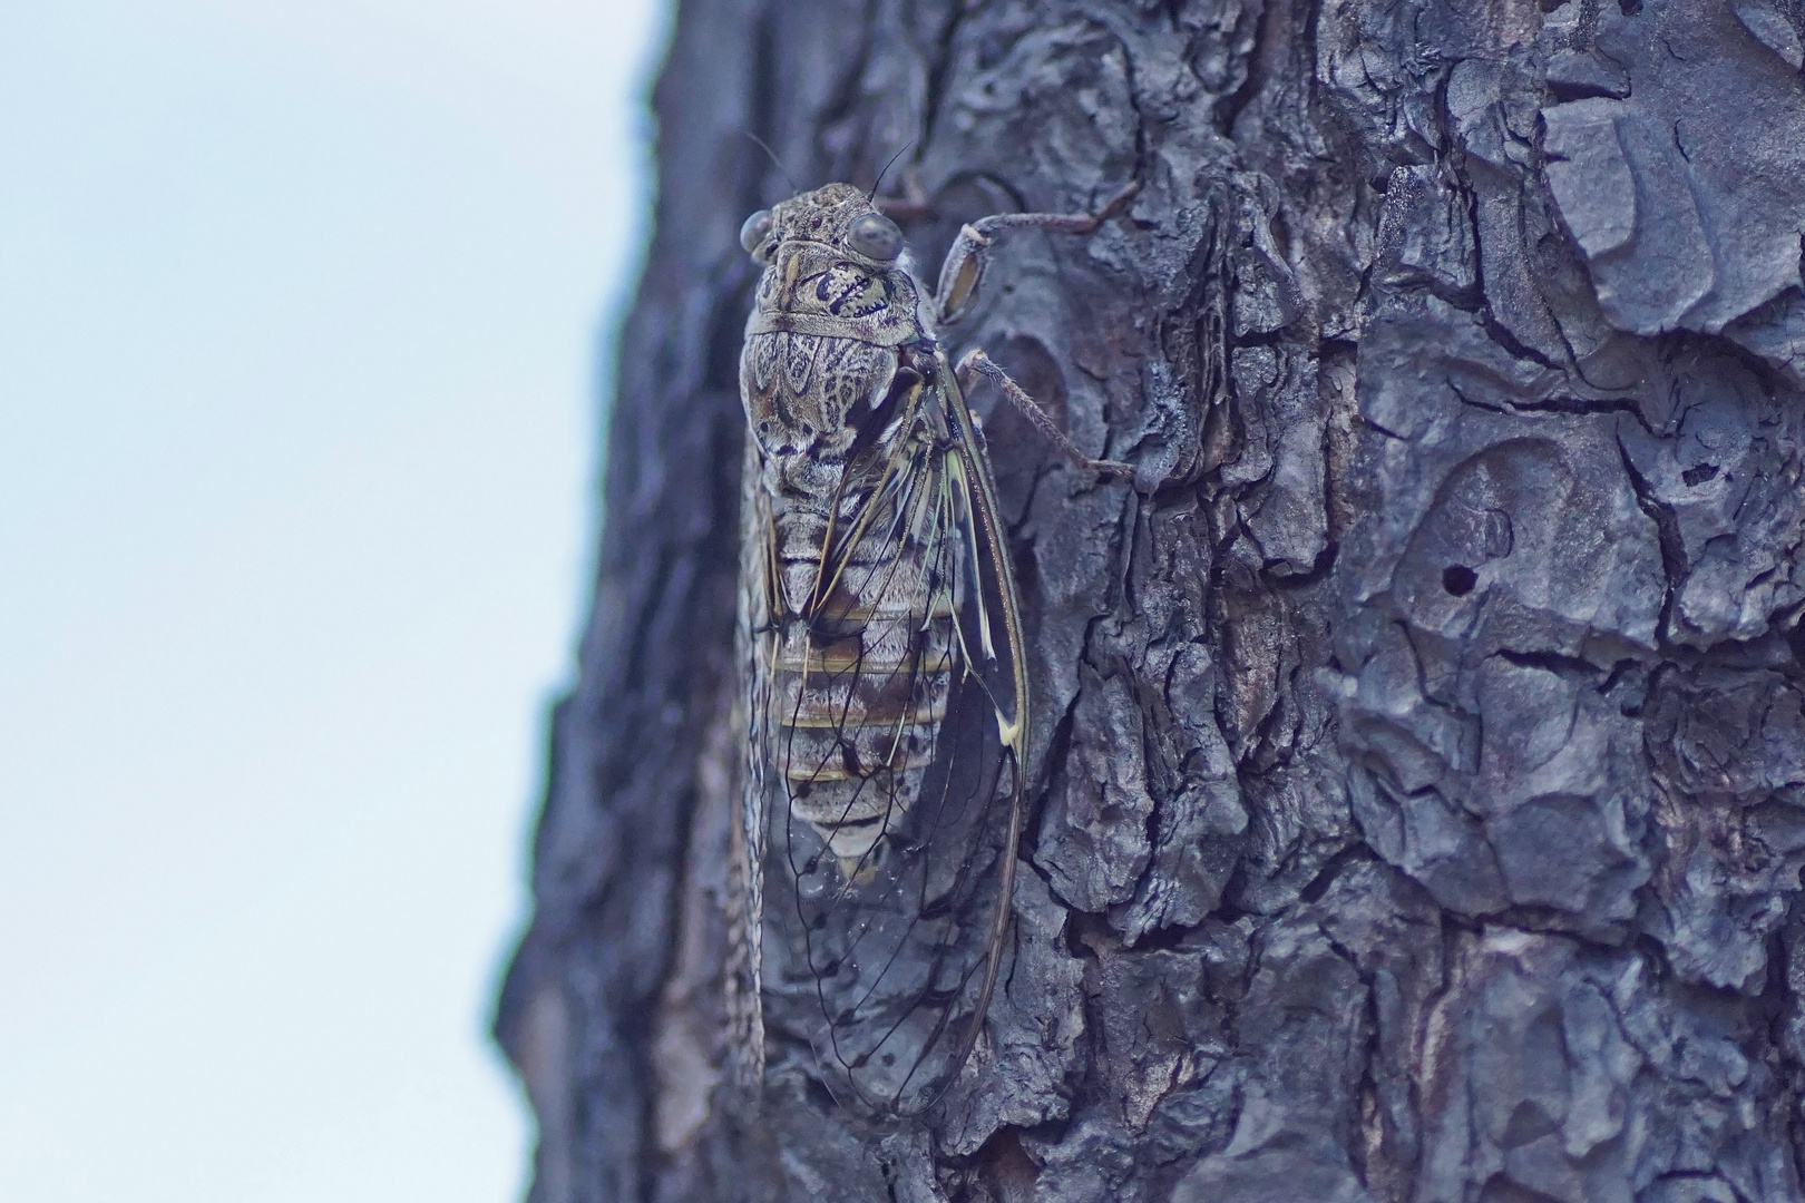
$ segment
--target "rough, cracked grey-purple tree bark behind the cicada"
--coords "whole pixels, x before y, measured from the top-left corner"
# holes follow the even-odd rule
[[[1801,1198],[1801,0],[686,0],[498,1033],[574,1199]],[[904,162],[1009,238],[1038,709],[984,1089],[722,1064],[753,265]],[[978,393],[989,409],[995,395]],[[1000,1051],[998,1051],[1000,1050]]]

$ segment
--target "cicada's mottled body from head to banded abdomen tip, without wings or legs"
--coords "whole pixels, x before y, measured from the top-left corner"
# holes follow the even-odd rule
[[[953,684],[951,602],[921,610],[924,581],[949,574],[928,563],[940,509],[931,489],[897,489],[944,440],[937,390],[953,384],[906,256],[874,267],[834,245],[836,189],[863,209],[830,186],[774,211],[740,393],[773,527],[751,615],[771,763],[791,813],[850,869],[919,797]]]

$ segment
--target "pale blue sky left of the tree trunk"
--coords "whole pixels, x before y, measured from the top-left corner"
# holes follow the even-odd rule
[[[0,7],[7,1203],[518,1196],[662,7]]]

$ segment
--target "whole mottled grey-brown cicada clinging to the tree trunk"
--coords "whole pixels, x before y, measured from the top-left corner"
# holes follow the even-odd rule
[[[1078,453],[982,350],[955,368],[939,330],[969,305],[996,233],[1085,233],[1132,193],[973,222],[933,290],[897,224],[848,184],[740,231],[762,265],[740,355],[747,754],[729,974],[751,1086],[765,994],[836,1095],[877,1113],[930,1107],[978,1041],[1005,950],[1029,696],[966,390],[987,377],[1078,462],[1132,469]]]

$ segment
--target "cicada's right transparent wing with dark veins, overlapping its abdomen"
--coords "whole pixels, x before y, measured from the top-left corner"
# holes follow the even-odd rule
[[[848,462],[810,611],[780,624],[771,734],[821,1062],[868,1107],[917,1113],[969,1055],[1000,967],[1023,689],[1002,527],[957,386],[939,361],[897,390],[890,429],[922,436]]]

